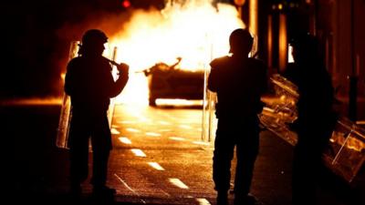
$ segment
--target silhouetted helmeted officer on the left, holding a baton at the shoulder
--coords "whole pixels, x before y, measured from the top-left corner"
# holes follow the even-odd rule
[[[72,105],[68,145],[71,191],[75,195],[81,193],[80,184],[88,178],[89,138],[93,151],[93,193],[115,192],[106,186],[111,149],[107,111],[110,97],[118,96],[127,84],[129,66],[120,64],[120,77],[114,81],[110,61],[102,56],[107,40],[102,31],[88,30],[82,37],[80,56],[68,63],[65,91]]]

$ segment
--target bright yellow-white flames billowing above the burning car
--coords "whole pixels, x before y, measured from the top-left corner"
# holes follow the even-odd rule
[[[214,57],[228,54],[229,35],[244,27],[233,5],[214,7],[212,0],[168,2],[163,10],[133,11],[130,22],[110,37],[110,45],[118,46],[116,61],[128,63],[131,74],[158,62],[172,65],[178,56],[183,58],[180,68],[202,70]],[[147,83],[141,81],[145,79],[131,78],[122,98],[139,95],[143,97],[136,101],[145,101]]]

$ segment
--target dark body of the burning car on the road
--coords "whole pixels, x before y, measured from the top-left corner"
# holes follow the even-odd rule
[[[203,99],[204,72],[177,68],[182,58],[172,66],[156,63],[143,70],[148,77],[149,105],[156,106],[157,98]]]

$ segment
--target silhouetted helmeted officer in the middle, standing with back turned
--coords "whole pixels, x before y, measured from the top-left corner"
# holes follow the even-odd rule
[[[253,37],[245,29],[236,29],[229,37],[232,56],[211,62],[208,88],[217,93],[218,128],[214,142],[213,178],[217,204],[227,204],[230,189],[231,160],[236,147],[235,204],[253,204],[248,195],[259,145],[260,97],[266,92],[266,65],[248,57]]]

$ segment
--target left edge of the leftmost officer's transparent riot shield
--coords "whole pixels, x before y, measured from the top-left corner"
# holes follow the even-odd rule
[[[79,41],[72,41],[69,46],[68,60],[78,56]],[[72,117],[71,99],[64,93],[62,97],[62,108],[58,121],[56,146],[62,149],[68,149],[68,130]]]

